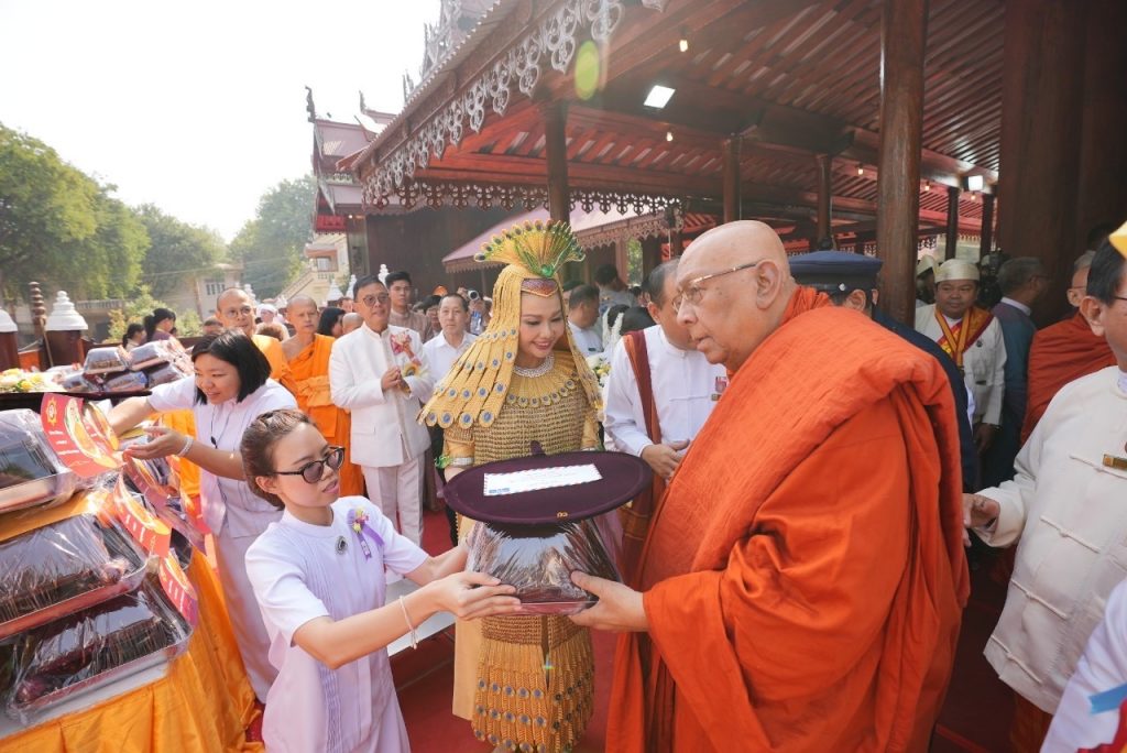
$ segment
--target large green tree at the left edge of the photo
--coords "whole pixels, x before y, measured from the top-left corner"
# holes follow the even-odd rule
[[[76,300],[132,290],[149,238],[113,191],[0,124],[0,291],[33,280]]]

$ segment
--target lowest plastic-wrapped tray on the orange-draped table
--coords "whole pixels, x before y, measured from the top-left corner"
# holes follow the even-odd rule
[[[9,714],[25,724],[82,692],[181,653],[190,632],[156,579],[10,643]]]

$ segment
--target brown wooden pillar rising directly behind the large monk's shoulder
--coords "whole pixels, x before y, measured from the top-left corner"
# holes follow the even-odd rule
[[[877,255],[885,263],[881,300],[889,315],[908,325],[915,318],[926,25],[928,0],[884,0]]]

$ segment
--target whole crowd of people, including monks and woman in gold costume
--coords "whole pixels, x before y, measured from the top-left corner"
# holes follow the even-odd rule
[[[224,291],[195,378],[113,409],[117,431],[178,417],[128,452],[198,468],[267,750],[408,750],[381,649],[449,611],[453,712],[498,750],[577,744],[600,629],[622,634],[606,750],[923,751],[971,542],[1015,547],[983,646],[1014,748],[1111,742],[1127,691],[1089,699],[1127,689],[1127,243],[1081,255],[1073,312],[1038,330],[1030,257],[991,308],[976,265],[926,257],[912,327],[879,309],[879,260],[788,257],[758,222],[640,289],[612,265],[561,282],[573,241],[548,223],[491,243],[491,298],[412,305],[408,272],[329,308]],[[123,345],[175,326],[158,309]],[[509,585],[463,572],[467,517],[447,553],[419,548],[445,481],[533,443],[653,470],[620,511],[621,582],[573,574],[598,602],[570,618],[514,615]],[[419,590],[384,603],[400,577]]]

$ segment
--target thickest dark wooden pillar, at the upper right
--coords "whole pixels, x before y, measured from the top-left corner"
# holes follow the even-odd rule
[[[1045,265],[1051,282],[1033,304],[1039,324],[1059,312],[1072,260],[1084,250],[1076,238],[1076,202],[1091,8],[1071,0],[1005,3],[999,181],[1010,209],[999,215],[999,247]],[[1122,96],[1121,78],[1104,86]],[[1113,127],[1121,140],[1122,124]]]

